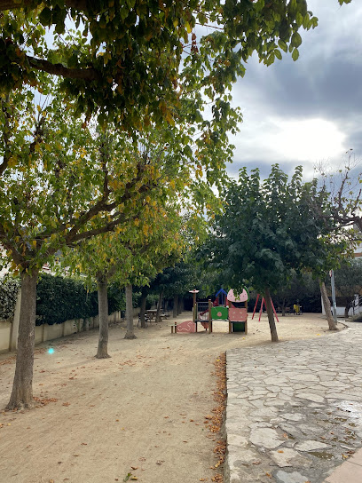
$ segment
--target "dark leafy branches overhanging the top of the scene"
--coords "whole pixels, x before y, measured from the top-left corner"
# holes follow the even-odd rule
[[[185,90],[218,97],[254,51],[267,65],[281,51],[297,59],[299,30],[318,23],[306,0],[0,0],[0,11],[1,89],[59,75],[80,112],[117,113],[125,129],[171,119]]]

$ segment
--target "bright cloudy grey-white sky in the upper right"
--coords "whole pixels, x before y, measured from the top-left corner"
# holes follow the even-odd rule
[[[253,58],[234,86],[244,122],[232,138],[232,175],[241,166],[267,175],[279,162],[289,173],[302,164],[310,178],[318,162],[340,167],[350,148],[362,160],[362,4],[308,0],[308,7],[319,27],[301,31],[299,59],[283,53],[265,67]]]

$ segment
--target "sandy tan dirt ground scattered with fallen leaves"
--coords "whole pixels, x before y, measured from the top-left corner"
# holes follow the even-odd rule
[[[187,319],[189,313],[177,321]],[[106,360],[93,357],[97,331],[43,344],[35,355],[34,393],[51,401],[0,414],[0,482],[212,481],[221,472],[212,469],[220,437],[205,424],[216,406],[214,362],[232,347],[270,344],[265,316],[249,321],[248,337],[226,330],[216,322],[211,335],[171,336],[161,322],[124,340],[120,324],[110,329],[113,357]],[[327,321],[288,316],[278,331],[281,340],[324,336]],[[10,398],[13,370],[14,360],[0,356],[0,408]]]

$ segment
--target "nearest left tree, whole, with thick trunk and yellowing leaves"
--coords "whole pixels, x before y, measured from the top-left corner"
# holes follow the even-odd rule
[[[35,108],[34,93],[3,97],[0,146],[0,241],[5,263],[21,276],[20,336],[8,408],[33,404],[36,281],[59,249],[113,231],[138,218],[159,173],[138,160],[125,169],[133,149],[76,120],[53,92],[51,105]],[[37,112],[39,111],[39,112]]]

